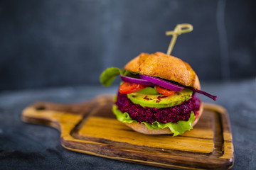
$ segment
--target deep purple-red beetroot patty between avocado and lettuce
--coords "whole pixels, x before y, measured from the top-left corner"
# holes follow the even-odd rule
[[[191,111],[195,115],[198,114],[200,103],[200,99],[196,95],[193,95],[191,99],[178,106],[169,108],[143,108],[139,104],[132,103],[127,98],[127,94],[118,93],[115,104],[122,113],[129,113],[132,120],[137,120],[139,123],[147,122],[151,124],[154,121],[158,121],[159,123],[177,123],[178,120],[188,121]]]

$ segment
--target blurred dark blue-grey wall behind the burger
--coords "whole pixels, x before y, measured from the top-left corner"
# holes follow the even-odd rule
[[[100,85],[107,67],[140,52],[166,52],[190,63],[201,81],[256,76],[255,1],[0,1],[0,91]]]

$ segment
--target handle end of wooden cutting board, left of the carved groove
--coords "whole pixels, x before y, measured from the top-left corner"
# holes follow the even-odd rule
[[[92,108],[110,101],[110,95],[102,95],[81,103],[53,103],[38,101],[25,108],[21,119],[26,123],[48,125],[63,132],[63,127],[75,125],[90,113]]]

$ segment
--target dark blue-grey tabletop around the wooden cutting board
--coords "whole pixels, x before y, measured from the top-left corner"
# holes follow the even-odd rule
[[[235,147],[233,169],[256,169],[256,79],[202,84],[228,110]],[[60,145],[54,128],[21,122],[21,111],[35,101],[75,103],[98,94],[114,94],[117,86],[65,87],[0,93],[0,169],[160,169],[80,154]]]

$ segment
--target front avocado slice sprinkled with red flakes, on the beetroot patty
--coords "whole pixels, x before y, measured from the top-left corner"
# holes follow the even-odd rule
[[[192,97],[193,91],[190,89],[183,89],[183,91],[176,91],[173,96],[164,96],[162,94],[127,94],[127,97],[134,104],[139,104],[142,107],[150,108],[169,108],[179,105],[184,101],[188,101]]]

